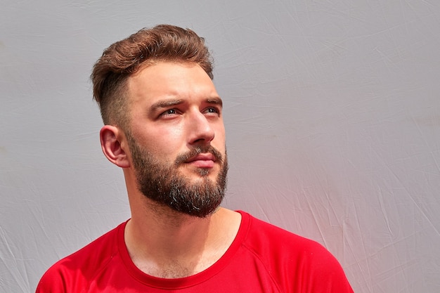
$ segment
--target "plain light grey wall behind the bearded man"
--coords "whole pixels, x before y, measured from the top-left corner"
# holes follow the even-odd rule
[[[129,217],[88,77],[159,23],[214,54],[224,206],[323,243],[355,292],[440,292],[440,2],[0,4],[1,292]]]

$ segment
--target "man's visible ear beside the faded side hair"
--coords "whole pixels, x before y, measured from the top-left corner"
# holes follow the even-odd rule
[[[101,148],[107,159],[121,168],[130,167],[127,155],[127,140],[124,133],[117,126],[104,125],[99,133]]]

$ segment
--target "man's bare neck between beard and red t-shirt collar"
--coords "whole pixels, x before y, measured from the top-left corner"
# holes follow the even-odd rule
[[[219,260],[239,226],[240,214],[228,209],[220,208],[206,218],[198,218],[154,204],[144,205],[142,212],[132,210],[125,242],[132,261],[144,273],[183,278]]]

